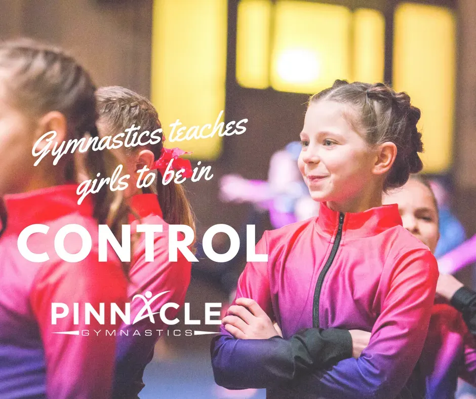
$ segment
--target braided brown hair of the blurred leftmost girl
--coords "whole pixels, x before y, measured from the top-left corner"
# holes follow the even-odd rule
[[[67,123],[67,139],[98,135],[96,87],[88,72],[63,50],[31,39],[3,42],[0,71],[5,76],[2,83],[8,90],[9,101],[25,114],[41,117],[50,111],[61,112]],[[111,156],[108,151],[88,151],[85,159],[88,177],[95,179],[98,173],[110,175]],[[65,154],[61,166],[66,181],[77,179],[80,166],[76,165],[73,154]],[[107,223],[116,237],[121,237],[121,224],[128,213],[122,191],[104,188],[91,195],[93,216],[99,224]],[[1,214],[5,229],[7,220]]]

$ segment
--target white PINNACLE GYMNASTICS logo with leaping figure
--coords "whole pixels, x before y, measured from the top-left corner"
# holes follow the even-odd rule
[[[149,322],[151,324],[155,324],[155,317],[154,315],[158,314],[160,317],[160,320],[162,323],[172,326],[180,322],[180,320],[176,317],[173,320],[169,320],[169,318],[166,316],[166,311],[169,308],[174,308],[178,309],[179,305],[175,302],[168,302],[165,303],[164,305],[161,306],[160,310],[157,312],[153,312],[151,305],[152,303],[162,295],[165,295],[169,293],[170,291],[164,291],[159,294],[156,294],[152,296],[152,293],[150,291],[147,291],[145,295],[137,294],[134,295],[132,298],[132,302],[135,300],[139,300],[143,302],[142,308],[139,310],[137,315],[134,317],[133,322],[131,323],[131,303],[132,302],[127,302],[125,305],[124,312],[121,310],[121,307],[118,306],[115,303],[110,303],[109,311],[106,313],[106,304],[105,303],[100,303],[99,304],[99,309],[95,309],[94,306],[91,303],[84,303],[82,305],[81,311],[80,311],[80,304],[77,302],[73,303],[73,311],[72,311],[72,317],[73,317],[73,325],[80,325],[80,317],[82,318],[82,321],[84,323],[81,323],[82,325],[90,325],[91,324],[91,317],[93,317],[97,323],[100,325],[105,325],[106,324],[106,315],[109,316],[108,320],[108,325],[114,326],[114,325],[121,325],[124,324],[126,326],[134,326],[135,324],[139,323],[142,320],[145,320],[148,318]],[[108,304],[109,305],[109,304]],[[212,308],[221,308],[221,303],[218,302],[206,302],[205,303],[205,325],[220,325],[221,320],[219,319],[220,317],[220,310],[212,310]],[[190,320],[190,304],[186,302],[184,304],[184,324],[189,326],[189,325],[201,325],[202,322],[201,320]],[[53,326],[56,326],[58,324],[58,320],[65,318],[69,315],[69,306],[66,303],[63,302],[53,302],[51,304],[51,324]],[[216,317],[213,318],[212,317]],[[130,328],[125,328],[123,327],[121,330],[118,331],[117,334],[124,334],[128,335],[129,334]],[[102,330],[94,332],[96,335],[99,335],[99,333]],[[104,330],[106,335],[116,335],[116,330]],[[145,330],[144,335],[150,336],[152,335],[151,333],[152,330]],[[159,332],[159,335],[161,335],[161,332],[164,330],[156,330]],[[176,332],[180,330],[174,330],[175,336],[177,336]],[[89,330],[73,330],[73,331],[58,331],[54,332],[54,334],[66,334],[66,335],[82,335],[82,336],[87,336],[89,334]],[[190,335],[204,335],[204,334],[218,334],[218,332],[212,332],[212,331],[199,331],[199,330],[186,330],[186,336]],[[133,335],[141,335],[140,330],[136,330]],[[168,334],[169,335],[169,334]]]

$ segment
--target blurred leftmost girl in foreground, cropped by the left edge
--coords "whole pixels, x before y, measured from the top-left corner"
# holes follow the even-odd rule
[[[41,139],[51,131],[54,143],[97,135],[94,91],[88,73],[61,50],[32,41],[0,44],[0,397],[91,399],[111,393],[115,340],[104,331],[115,326],[108,316],[102,324],[95,317],[87,322],[84,309],[99,309],[100,303],[124,308],[121,263],[113,253],[98,261],[98,223],[120,223],[121,192],[103,189],[78,205],[73,155],[55,166],[51,158],[33,166],[32,155],[34,145],[51,144]],[[88,153],[90,178],[106,174],[104,154]],[[17,246],[32,224],[49,228],[27,241],[32,253],[47,254],[39,263],[26,260]],[[55,235],[67,224],[91,234],[92,248],[82,261],[70,263],[56,253]],[[68,234],[64,248],[76,254],[82,240]],[[61,313],[52,312],[54,303],[70,314],[53,317]]]

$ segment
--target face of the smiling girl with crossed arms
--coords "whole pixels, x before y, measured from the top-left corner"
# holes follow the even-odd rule
[[[333,101],[309,106],[300,134],[298,166],[314,201],[327,201],[334,210],[358,212],[360,198],[373,195],[376,157],[347,122],[345,111],[348,106]]]

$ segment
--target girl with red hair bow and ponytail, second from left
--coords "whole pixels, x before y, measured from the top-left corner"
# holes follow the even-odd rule
[[[101,137],[115,136],[132,125],[140,127],[137,136],[144,131],[151,133],[161,129],[157,111],[150,101],[131,90],[105,87],[97,91],[96,97]],[[152,312],[159,312],[161,307],[169,302],[183,306],[190,283],[191,263],[182,253],[178,252],[176,262],[169,261],[169,224],[185,224],[195,232],[193,213],[182,185],[173,182],[163,185],[160,172],[153,184],[154,192],[150,188],[137,188],[136,184],[139,176],[137,171],[144,166],[152,169],[155,164],[160,164],[161,154],[168,151],[163,146],[162,131],[157,134],[160,140],[155,144],[123,146],[112,151],[118,161],[124,164],[125,173],[131,176],[126,195],[132,213],[138,219],[133,226],[137,223],[163,225],[163,232],[155,234],[152,262],[145,260],[144,240],[135,247],[129,270],[131,320],[134,320],[144,305],[140,298],[134,300],[135,295],[143,295],[148,291],[152,295],[164,293],[150,306]],[[141,141],[147,140],[142,138]],[[173,320],[178,311],[179,307],[169,308],[166,312],[167,318]],[[117,338],[114,397],[137,397],[144,387],[142,375],[145,366],[152,359],[154,345],[161,335],[166,334],[167,328],[168,325],[162,323],[159,317],[155,317],[153,324],[147,317],[139,323],[121,328],[122,332]],[[146,330],[149,332],[146,333]]]

